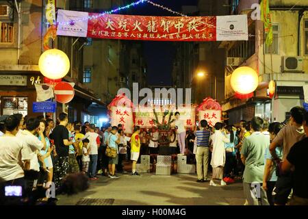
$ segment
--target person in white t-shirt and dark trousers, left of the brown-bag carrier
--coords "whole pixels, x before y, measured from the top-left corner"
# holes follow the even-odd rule
[[[99,134],[95,133],[95,125],[91,124],[88,128],[88,132],[86,133],[86,137],[90,140],[90,164],[88,175],[91,180],[97,180],[99,178],[96,177],[97,175],[97,159],[99,157],[99,146],[101,145],[101,140],[99,139]]]

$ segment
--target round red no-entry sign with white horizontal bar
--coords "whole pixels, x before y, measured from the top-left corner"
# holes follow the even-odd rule
[[[59,103],[68,103],[73,100],[75,95],[75,90],[70,83],[60,82],[55,85],[54,89],[55,100]]]

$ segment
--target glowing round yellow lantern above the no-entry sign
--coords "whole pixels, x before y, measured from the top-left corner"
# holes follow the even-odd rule
[[[49,49],[40,55],[38,67],[44,77],[49,79],[60,79],[70,70],[70,60],[67,55],[59,49]]]

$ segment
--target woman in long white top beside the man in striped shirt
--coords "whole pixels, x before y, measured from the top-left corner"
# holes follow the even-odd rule
[[[211,167],[213,168],[213,175],[209,185],[216,186],[214,179],[220,179],[220,185],[227,185],[223,180],[224,163],[226,162],[226,152],[224,143],[229,143],[230,140],[224,133],[222,123],[216,123],[215,133],[211,135],[210,140],[213,145],[213,152],[211,154]]]

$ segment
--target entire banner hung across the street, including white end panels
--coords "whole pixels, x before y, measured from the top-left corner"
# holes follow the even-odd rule
[[[247,15],[133,16],[57,11],[57,35],[117,40],[248,40]]]

